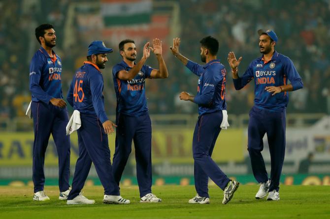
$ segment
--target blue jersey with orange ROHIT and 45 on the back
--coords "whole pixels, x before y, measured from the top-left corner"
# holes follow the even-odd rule
[[[85,61],[74,74],[67,101],[81,113],[96,114],[101,123],[108,120],[104,110],[103,76],[99,67]]]

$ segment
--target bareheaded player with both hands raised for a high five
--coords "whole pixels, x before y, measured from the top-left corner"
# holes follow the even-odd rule
[[[156,55],[159,70],[145,65],[150,50]],[[125,165],[135,147],[136,175],[140,191],[140,202],[161,202],[151,192],[151,120],[145,97],[145,79],[164,79],[168,77],[162,56],[162,41],[153,40],[153,48],[147,42],[143,47],[143,56],[138,63],[133,40],[126,39],[119,43],[123,61],[112,69],[112,76],[117,96],[116,109],[116,149],[113,155],[113,175],[119,185]]]

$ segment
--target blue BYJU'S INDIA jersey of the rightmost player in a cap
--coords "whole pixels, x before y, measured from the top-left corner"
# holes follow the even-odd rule
[[[252,79],[255,82],[255,106],[272,111],[283,111],[286,109],[289,97],[287,92],[277,93],[272,96],[272,93],[265,90],[266,86],[286,85],[288,80],[290,80],[293,90],[303,87],[302,79],[294,63],[289,57],[276,51],[267,62],[264,61],[264,55],[253,60],[241,77],[233,79],[235,89],[242,89]]]

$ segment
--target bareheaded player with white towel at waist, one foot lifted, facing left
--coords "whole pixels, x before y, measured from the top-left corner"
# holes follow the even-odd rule
[[[193,137],[194,179],[197,195],[189,203],[209,204],[208,178],[224,191],[223,204],[227,204],[239,186],[230,180],[211,155],[221,129],[227,129],[228,116],[225,99],[226,69],[217,59],[219,42],[207,36],[200,40],[200,58],[205,65],[199,65],[179,53],[180,38],[173,39],[172,54],[199,77],[197,95],[183,91],[179,98],[198,104],[198,121]]]

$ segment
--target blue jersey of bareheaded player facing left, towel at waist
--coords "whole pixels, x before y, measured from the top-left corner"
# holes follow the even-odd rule
[[[199,76],[197,95],[194,98],[194,102],[198,104],[198,114],[227,109],[226,69],[220,60],[211,60],[203,66],[189,60],[186,67]]]

